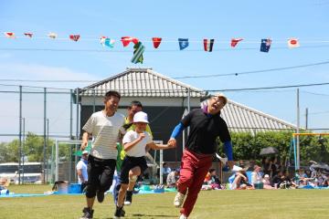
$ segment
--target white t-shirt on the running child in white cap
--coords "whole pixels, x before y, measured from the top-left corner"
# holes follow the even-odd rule
[[[133,146],[133,148],[129,151],[126,151],[126,154],[131,157],[143,157],[146,154],[145,147],[146,144],[149,144],[152,142],[152,138],[150,134],[147,131],[143,131],[145,134],[145,138],[143,138],[142,141],[139,141],[137,144]],[[123,145],[125,143],[130,143],[138,139],[139,133],[137,133],[134,130],[129,130],[124,136],[122,143]]]

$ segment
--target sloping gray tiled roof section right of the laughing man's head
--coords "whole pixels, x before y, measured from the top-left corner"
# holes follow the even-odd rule
[[[229,130],[294,130],[296,126],[284,120],[277,119],[259,110],[253,110],[228,99],[228,104],[222,110],[221,116],[228,123]]]

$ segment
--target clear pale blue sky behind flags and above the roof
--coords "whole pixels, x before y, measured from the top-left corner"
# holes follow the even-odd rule
[[[0,79],[100,80],[134,66],[150,67],[167,77],[176,78],[324,62],[329,60],[328,9],[328,0],[3,0],[0,2]],[[6,31],[21,37],[5,38],[3,32]],[[22,37],[24,32],[32,32],[34,37]],[[58,39],[48,38],[49,32],[57,33]],[[80,41],[69,40],[70,34],[80,34]],[[115,47],[101,47],[100,36],[116,39]],[[121,36],[136,36],[143,42],[146,47],[143,65],[130,62],[133,48],[122,47],[118,42]],[[164,40],[157,50],[151,42],[153,36],[163,37]],[[191,41],[186,50],[179,51],[178,37]],[[232,37],[243,37],[244,40],[238,47],[231,48],[229,40]],[[266,37],[272,39],[271,50],[261,53],[260,39]],[[289,49],[289,37],[299,38],[301,47]],[[203,51],[204,38],[215,38],[212,53]],[[179,80],[206,90],[324,83],[329,82],[328,67],[318,65],[240,76]],[[2,85],[65,89],[82,88],[90,83],[0,81]],[[16,87],[0,86],[0,90],[6,89]],[[301,114],[305,108],[309,109],[309,126],[329,128],[329,86],[300,90]],[[296,89],[226,92],[229,99],[291,123],[296,123],[295,93]],[[17,131],[17,96],[0,93],[0,97],[3,104],[11,106],[10,110],[0,110],[0,118],[6,124],[0,133],[14,133]],[[39,127],[31,119],[37,118],[42,124],[42,96],[39,98],[26,96],[24,99],[24,113],[31,120],[28,122],[29,130],[42,131],[42,126]],[[61,115],[68,113],[69,100],[50,99],[56,105],[60,101],[65,103],[62,110],[49,112],[51,119],[63,120],[50,122],[50,130],[56,132],[67,120],[62,119]],[[38,104],[39,107],[34,108]],[[51,108],[51,103],[49,105]],[[301,123],[304,124],[303,117]]]

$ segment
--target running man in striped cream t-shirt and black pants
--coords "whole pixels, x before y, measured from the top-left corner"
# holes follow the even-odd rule
[[[124,116],[118,109],[121,95],[117,91],[108,91],[104,97],[104,110],[93,113],[83,126],[81,151],[88,145],[92,136],[88,158],[88,183],[86,188],[87,207],[82,211],[81,219],[90,219],[95,196],[99,203],[104,200],[104,193],[111,187],[118,151],[117,142],[124,132]]]

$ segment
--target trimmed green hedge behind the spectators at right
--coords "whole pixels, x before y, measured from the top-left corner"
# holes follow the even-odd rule
[[[293,161],[292,132],[266,131],[257,132],[231,132],[233,155],[235,161],[260,161],[260,150],[266,147],[278,149],[278,158],[281,161]],[[218,153],[223,154],[223,145],[218,143]],[[329,162],[329,137],[327,136],[301,136],[300,137],[301,165],[309,161]]]

